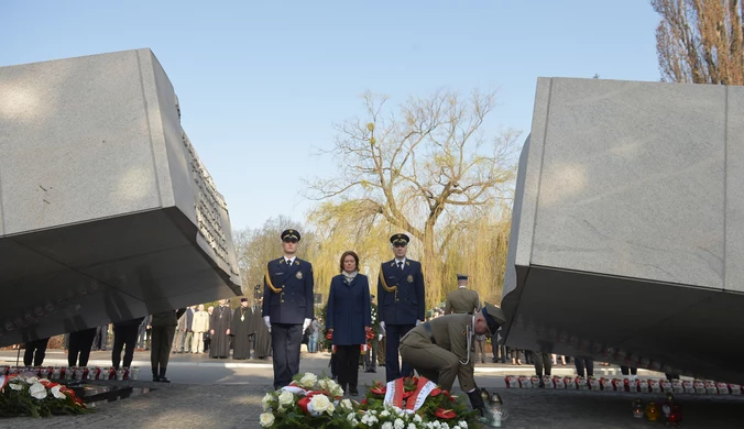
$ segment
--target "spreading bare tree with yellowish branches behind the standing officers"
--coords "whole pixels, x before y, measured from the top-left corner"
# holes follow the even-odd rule
[[[311,183],[309,197],[343,207],[344,222],[383,220],[387,232],[409,233],[431,305],[441,296],[446,244],[512,186],[516,133],[486,135],[495,92],[437,91],[395,107],[368,92],[363,101],[362,118],[336,125],[329,153],[338,175]]]

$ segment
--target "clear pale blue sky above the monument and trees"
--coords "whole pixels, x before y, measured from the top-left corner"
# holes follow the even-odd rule
[[[500,88],[486,131],[524,138],[538,76],[658,80],[658,21],[647,0],[0,0],[0,66],[152,48],[233,229],[255,228],[304,219],[302,179],[333,168],[313,147],[364,90]]]

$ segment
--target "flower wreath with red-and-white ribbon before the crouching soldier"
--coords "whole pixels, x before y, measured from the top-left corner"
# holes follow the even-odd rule
[[[384,424],[391,419],[394,427],[401,425],[396,421],[401,419],[406,428],[413,424],[412,429],[481,427],[478,411],[468,408],[464,402],[458,400],[456,396],[442,391],[425,377],[404,377],[386,385],[378,382],[366,393],[359,410],[379,420],[364,424],[360,419],[361,428],[384,427]],[[372,411],[374,413],[371,414]],[[402,418],[402,414],[407,416],[406,419]],[[416,419],[416,416],[420,416],[420,421]],[[380,420],[381,417],[385,420]]]

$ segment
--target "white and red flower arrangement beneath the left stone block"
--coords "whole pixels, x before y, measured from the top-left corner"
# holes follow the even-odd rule
[[[1,417],[79,415],[85,404],[66,386],[33,373],[0,375]]]

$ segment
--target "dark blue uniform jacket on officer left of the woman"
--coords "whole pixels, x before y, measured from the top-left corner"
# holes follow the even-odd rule
[[[272,323],[302,324],[313,319],[313,264],[296,257],[269,261],[263,278],[263,316]]]

